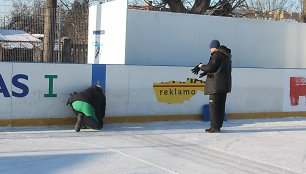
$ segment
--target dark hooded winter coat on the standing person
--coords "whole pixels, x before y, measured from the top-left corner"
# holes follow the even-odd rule
[[[207,73],[204,94],[229,93],[232,89],[232,55],[226,46],[220,46],[211,54],[201,70]]]

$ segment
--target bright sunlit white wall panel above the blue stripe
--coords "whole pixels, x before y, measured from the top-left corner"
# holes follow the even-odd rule
[[[124,64],[127,1],[111,1],[89,9],[92,12],[88,28],[88,63]],[[94,31],[102,33],[94,34]],[[94,60],[95,57],[98,60]]]

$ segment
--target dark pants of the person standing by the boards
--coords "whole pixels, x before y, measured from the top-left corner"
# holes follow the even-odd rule
[[[225,114],[225,102],[227,93],[209,95],[210,128],[220,129]]]

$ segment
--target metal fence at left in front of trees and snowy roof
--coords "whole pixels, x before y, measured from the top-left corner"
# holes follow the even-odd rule
[[[44,27],[46,11],[0,16],[0,61],[87,63],[88,8],[51,9],[54,19]]]

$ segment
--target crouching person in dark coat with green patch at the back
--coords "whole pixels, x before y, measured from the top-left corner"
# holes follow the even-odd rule
[[[71,106],[77,117],[75,131],[79,132],[81,128],[102,129],[106,98],[101,87],[91,86],[80,93],[74,92],[70,95],[67,105]]]

